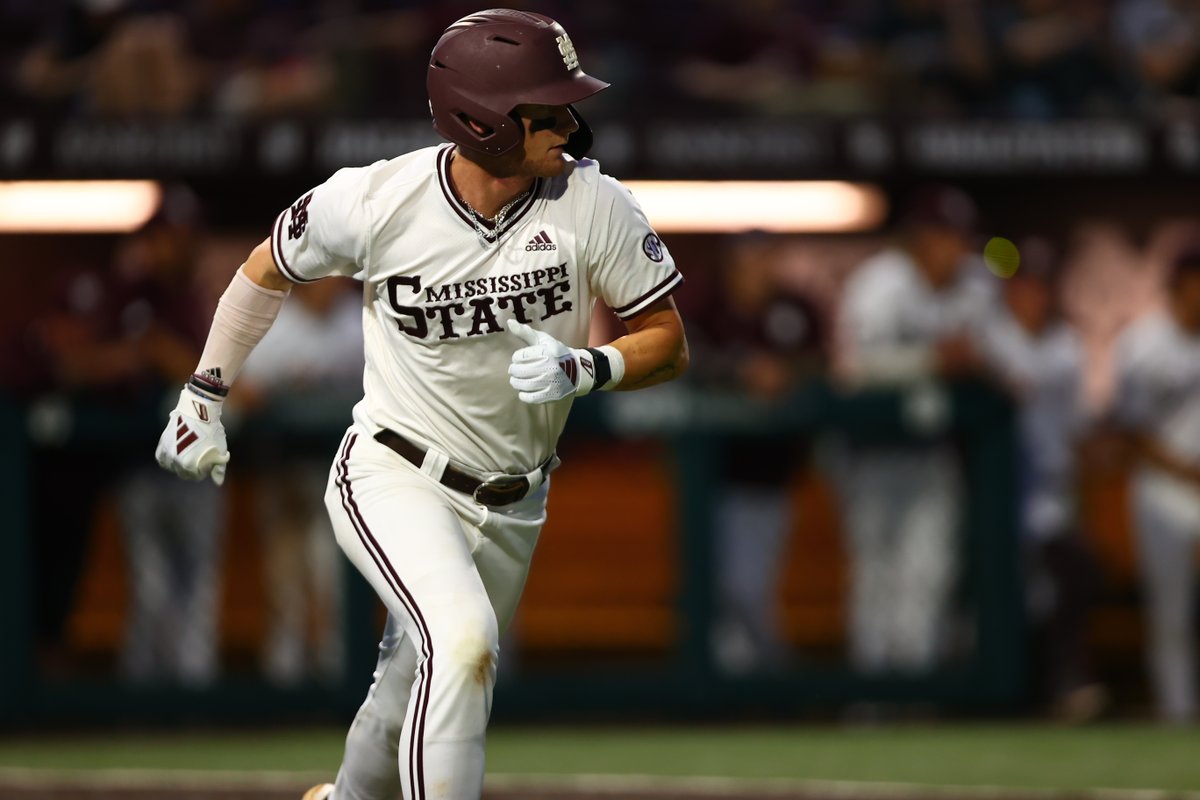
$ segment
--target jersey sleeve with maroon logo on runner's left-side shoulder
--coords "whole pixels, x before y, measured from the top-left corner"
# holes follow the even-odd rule
[[[366,168],[340,169],[275,219],[271,255],[296,283],[341,275],[355,277],[366,252]]]

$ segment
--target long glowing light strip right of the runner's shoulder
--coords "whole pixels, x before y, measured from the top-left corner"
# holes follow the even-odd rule
[[[846,181],[623,181],[662,233],[852,233],[878,228],[883,192]]]

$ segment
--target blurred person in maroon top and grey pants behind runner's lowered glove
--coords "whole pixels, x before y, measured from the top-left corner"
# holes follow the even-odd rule
[[[203,311],[209,306],[199,300],[194,279],[198,222],[194,196],[174,190],[122,264],[136,293],[120,311],[124,344],[162,399],[204,336]],[[223,498],[214,486],[172,481],[138,462],[118,499],[132,582],[125,673],[137,680],[211,682],[218,672]]]

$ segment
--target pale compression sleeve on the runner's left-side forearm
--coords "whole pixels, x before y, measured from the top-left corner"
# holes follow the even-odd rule
[[[239,267],[212,314],[212,327],[196,372],[206,372],[226,385],[232,384],[250,351],[271,329],[287,296],[288,291],[258,285]]]

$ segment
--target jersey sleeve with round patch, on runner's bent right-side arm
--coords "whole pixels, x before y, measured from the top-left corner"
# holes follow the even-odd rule
[[[588,279],[593,291],[626,320],[674,291],[683,275],[630,191],[607,175],[598,180]]]

